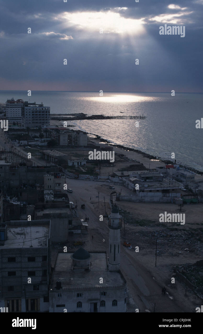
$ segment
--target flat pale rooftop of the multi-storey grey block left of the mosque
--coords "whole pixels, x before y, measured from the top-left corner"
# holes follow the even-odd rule
[[[23,226],[23,220],[21,225],[9,225],[7,224],[7,240],[4,241],[4,245],[1,248],[28,248],[31,245],[33,247],[47,247],[47,241],[49,238],[50,220],[44,220],[44,224],[35,224],[31,221],[31,237],[30,226]],[[38,220],[38,222],[40,222]],[[28,221],[26,221],[26,224]],[[25,231],[25,234],[24,234]]]

